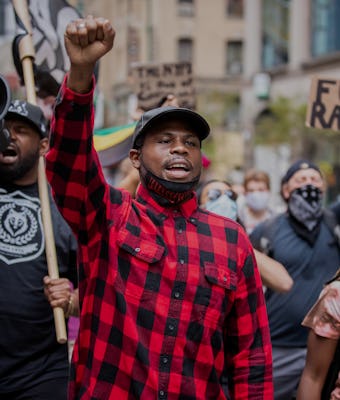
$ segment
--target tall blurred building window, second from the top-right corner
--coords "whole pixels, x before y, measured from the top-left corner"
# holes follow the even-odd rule
[[[290,0],[262,4],[262,66],[268,69],[288,63]]]

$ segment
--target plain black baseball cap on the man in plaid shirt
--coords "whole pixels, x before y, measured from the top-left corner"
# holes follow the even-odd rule
[[[144,135],[151,129],[157,126],[160,122],[166,120],[181,120],[188,124],[193,132],[197,134],[200,141],[204,140],[210,133],[208,122],[198,113],[189,108],[180,107],[158,107],[146,111],[137,122],[135,131],[132,136],[132,148],[136,149],[142,145]]]

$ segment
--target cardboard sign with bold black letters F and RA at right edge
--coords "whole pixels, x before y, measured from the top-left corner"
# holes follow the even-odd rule
[[[340,130],[340,80],[313,77],[306,125]]]

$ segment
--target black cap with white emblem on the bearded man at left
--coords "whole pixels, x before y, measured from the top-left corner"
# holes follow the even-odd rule
[[[10,103],[5,119],[19,118],[32,125],[41,138],[47,137],[47,121],[40,107],[24,100]]]

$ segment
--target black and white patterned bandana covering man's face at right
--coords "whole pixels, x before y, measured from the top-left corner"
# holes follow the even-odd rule
[[[313,185],[295,189],[288,200],[288,212],[309,232],[322,218],[322,192]]]

